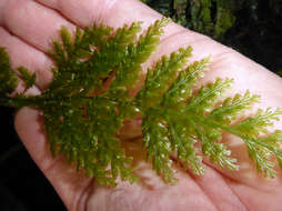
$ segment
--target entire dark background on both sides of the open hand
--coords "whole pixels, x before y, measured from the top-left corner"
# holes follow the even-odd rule
[[[282,0],[142,1],[282,76]],[[66,210],[19,141],[13,110],[0,107],[0,210]]]

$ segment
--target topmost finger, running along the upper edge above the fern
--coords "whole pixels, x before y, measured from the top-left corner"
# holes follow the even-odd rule
[[[75,0],[70,0],[68,2],[63,0],[37,1],[58,10],[66,18],[82,28],[91,26],[93,21],[97,23],[104,23],[115,29],[123,27],[124,23],[142,21],[144,23],[143,27],[147,28],[162,17],[160,13],[135,0],[83,0],[80,2]],[[172,26],[183,30],[183,28],[180,28],[177,24]]]

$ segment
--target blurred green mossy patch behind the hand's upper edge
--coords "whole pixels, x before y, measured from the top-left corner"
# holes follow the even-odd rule
[[[143,1],[175,22],[221,39],[235,22],[234,0],[147,0]]]

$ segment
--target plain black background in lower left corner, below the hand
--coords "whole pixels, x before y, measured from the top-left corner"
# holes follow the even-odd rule
[[[13,129],[13,110],[0,108],[0,210],[66,210]]]

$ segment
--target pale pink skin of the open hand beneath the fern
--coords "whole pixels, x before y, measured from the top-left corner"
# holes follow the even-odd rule
[[[37,86],[29,94],[40,94],[52,79],[52,61],[46,54],[51,41],[58,38],[61,26],[74,29],[90,26],[93,21],[113,28],[132,21],[143,21],[147,28],[161,16],[135,0],[1,0],[0,46],[6,47],[16,69],[26,66],[37,73]],[[282,80],[260,64],[229,49],[208,37],[170,23],[157,52],[144,64],[155,62],[180,47],[191,46],[194,60],[211,56],[210,71],[201,83],[215,78],[234,78],[233,89],[228,93],[243,93],[246,89],[260,94],[261,103],[255,108],[282,107]],[[145,71],[144,71],[145,73]],[[22,91],[22,83],[18,91]],[[92,179],[83,177],[67,164],[62,157],[53,159],[42,130],[40,111],[21,109],[14,120],[16,129],[31,158],[52,183],[68,210],[89,211],[193,211],[193,210],[281,210],[282,174],[264,179],[256,173],[248,159],[241,140],[224,135],[224,142],[232,150],[232,157],[241,163],[239,172],[230,172],[205,160],[205,174],[195,177],[183,171],[177,163],[175,185],[164,184],[144,162],[141,152],[140,121],[128,122],[122,129],[123,147],[134,158],[140,183],[119,182],[114,189],[103,188]],[[282,122],[274,124],[282,128]]]

